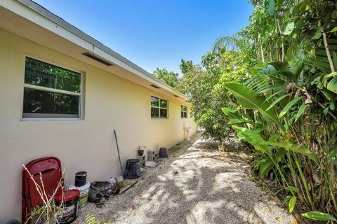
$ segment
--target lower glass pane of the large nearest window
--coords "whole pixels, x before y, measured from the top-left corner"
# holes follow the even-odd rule
[[[69,117],[79,118],[79,96],[60,94],[42,90],[24,89],[23,116],[25,113],[47,114],[41,117]]]

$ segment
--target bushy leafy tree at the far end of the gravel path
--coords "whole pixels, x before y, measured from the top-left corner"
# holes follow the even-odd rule
[[[183,77],[177,89],[190,97],[192,116],[204,127],[204,137],[222,142],[230,127],[222,113],[224,106],[232,106],[223,83],[242,83],[248,78],[241,52],[208,52],[202,57],[201,65],[182,60],[180,69]]]

